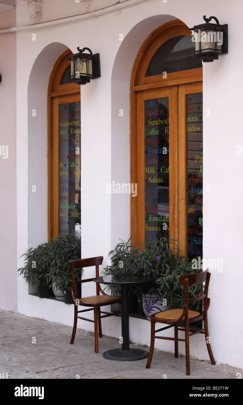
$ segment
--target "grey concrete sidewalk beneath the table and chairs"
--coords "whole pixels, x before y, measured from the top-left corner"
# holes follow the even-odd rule
[[[105,379],[120,376],[127,379],[235,379],[237,370],[210,360],[190,358],[191,375],[186,376],[185,356],[154,350],[150,369],[146,359],[110,361],[102,357],[106,350],[119,347],[116,338],[99,338],[99,353],[94,352],[94,336],[77,329],[70,345],[72,328],[0,310],[0,373],[8,378],[82,378]],[[36,343],[32,343],[36,338]],[[131,347],[147,346],[131,343]]]

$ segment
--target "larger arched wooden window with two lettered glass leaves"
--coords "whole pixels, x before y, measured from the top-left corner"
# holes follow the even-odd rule
[[[138,246],[162,236],[180,254],[202,255],[202,62],[180,20],[142,45],[131,76],[131,234]]]

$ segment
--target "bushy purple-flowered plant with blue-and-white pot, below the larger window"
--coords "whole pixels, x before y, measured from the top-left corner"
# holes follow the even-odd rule
[[[130,238],[131,239],[131,238]],[[184,299],[183,286],[180,286],[178,276],[180,274],[193,274],[190,262],[183,262],[187,259],[178,256],[175,241],[167,240],[165,237],[150,243],[139,251],[130,243],[130,239],[121,241],[113,251],[112,265],[104,269],[105,274],[125,275],[148,275],[155,279],[150,284],[131,286],[130,290],[138,296],[142,293],[144,313],[150,319],[152,313],[164,311],[173,307],[180,307]],[[116,287],[115,294],[118,292]],[[201,286],[197,285],[196,289]],[[195,294],[193,286],[189,288],[189,294]],[[193,303],[192,308],[199,307],[199,302]]]

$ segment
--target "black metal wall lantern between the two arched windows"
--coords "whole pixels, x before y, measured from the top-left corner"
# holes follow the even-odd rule
[[[67,59],[71,60],[71,81],[80,85],[90,82],[90,79],[100,77],[99,53],[93,55],[91,49],[79,47],[78,53]],[[87,50],[90,53],[84,53]]]

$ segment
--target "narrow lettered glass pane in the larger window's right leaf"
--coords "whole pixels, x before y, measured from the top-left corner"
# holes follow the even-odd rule
[[[186,96],[187,256],[203,256],[203,93]]]

